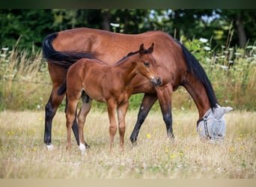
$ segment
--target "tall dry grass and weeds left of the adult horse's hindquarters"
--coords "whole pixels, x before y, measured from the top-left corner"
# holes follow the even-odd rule
[[[1,48],[0,68],[0,111],[44,107],[51,82],[40,52],[31,57],[27,51]]]

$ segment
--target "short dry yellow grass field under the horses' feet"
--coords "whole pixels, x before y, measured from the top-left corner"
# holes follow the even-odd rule
[[[109,120],[106,113],[91,111],[85,124],[85,138],[91,145],[82,156],[73,137],[66,144],[65,115],[58,112],[52,127],[49,151],[43,144],[43,111],[0,113],[0,178],[65,179],[162,179],[162,178],[252,178],[255,179],[255,112],[225,114],[227,135],[223,144],[209,144],[198,138],[197,112],[174,111],[175,141],[166,138],[162,114],[150,112],[131,146],[129,135],[136,111],[127,114],[125,152],[109,153]]]

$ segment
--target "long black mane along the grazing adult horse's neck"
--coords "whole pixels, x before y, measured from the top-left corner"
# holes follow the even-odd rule
[[[189,72],[192,73],[192,75],[195,76],[195,78],[204,85],[208,99],[210,101],[211,108],[216,108],[218,105],[218,101],[213,91],[213,86],[211,85],[210,80],[208,79],[207,74],[204,71],[204,68],[201,67],[201,64],[198,62],[195,56],[192,55],[185,46],[183,46],[181,43],[180,46],[182,48],[183,57],[186,61]]]

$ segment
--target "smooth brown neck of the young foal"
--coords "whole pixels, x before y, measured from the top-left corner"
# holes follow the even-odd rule
[[[115,73],[120,78],[119,80],[124,81],[125,85],[127,85],[138,73],[136,69],[137,65],[138,54],[124,58],[124,60],[114,64],[112,68],[114,68],[113,70],[115,70]]]

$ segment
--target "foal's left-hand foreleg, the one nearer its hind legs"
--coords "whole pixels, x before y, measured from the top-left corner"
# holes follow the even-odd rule
[[[110,135],[110,152],[112,152],[115,133],[117,132],[117,123],[115,120],[116,103],[112,100],[108,101],[109,114],[109,135]]]

